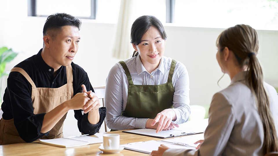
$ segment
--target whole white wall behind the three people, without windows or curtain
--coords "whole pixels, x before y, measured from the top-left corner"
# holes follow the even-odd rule
[[[20,52],[7,64],[7,71],[42,48],[45,19],[0,16],[0,47],[7,46]],[[92,86],[104,86],[110,68],[119,61],[112,58],[116,24],[95,23],[94,20],[82,22],[81,42],[73,61],[88,73]],[[165,30],[168,38],[164,55],[181,61],[189,72],[190,104],[210,104],[213,94],[221,90],[217,86],[222,72],[215,58],[215,41],[223,29],[176,27],[165,24]],[[278,87],[278,31],[257,32],[260,40],[258,57],[264,69],[265,80]],[[220,81],[220,86],[225,88],[230,81],[225,75]]]

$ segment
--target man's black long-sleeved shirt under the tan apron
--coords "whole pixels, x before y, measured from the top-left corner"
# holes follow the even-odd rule
[[[22,68],[34,81],[37,88],[59,88],[67,84],[67,74],[65,66],[58,69],[54,77],[54,69],[48,66],[41,57],[41,51],[15,67]],[[84,84],[87,90],[94,89],[89,81],[87,73],[78,65],[71,63],[73,74],[74,95],[80,92],[81,85]],[[20,137],[25,142],[33,142],[36,139],[48,135],[40,133],[45,113],[34,114],[32,103],[32,85],[19,72],[10,72],[7,80],[7,88],[3,97],[1,108],[3,119],[14,119],[14,125]],[[88,113],[82,115],[81,110],[74,110],[74,117],[78,120],[78,128],[81,133],[94,135],[100,129],[106,115],[106,108],[99,108],[100,119],[95,125],[88,121]]]

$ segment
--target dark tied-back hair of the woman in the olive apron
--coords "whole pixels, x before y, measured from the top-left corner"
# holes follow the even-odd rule
[[[144,34],[149,30],[149,28],[151,28],[151,26],[155,27],[162,39],[167,39],[167,35],[166,32],[164,30],[164,27],[162,25],[162,23],[154,16],[149,16],[149,15],[145,15],[145,16],[141,16],[139,18],[137,18],[132,26],[131,26],[131,33],[130,33],[130,39],[132,44],[134,45],[138,45],[139,43],[141,43],[141,39],[144,36]],[[133,56],[137,56],[138,52],[136,52],[136,50],[133,52]]]

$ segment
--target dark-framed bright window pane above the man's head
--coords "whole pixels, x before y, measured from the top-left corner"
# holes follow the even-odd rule
[[[91,17],[91,0],[36,0],[36,14],[67,13],[76,17]]]

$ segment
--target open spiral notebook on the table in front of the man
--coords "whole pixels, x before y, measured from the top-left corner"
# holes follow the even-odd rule
[[[58,147],[76,147],[89,144],[102,143],[103,139],[89,136],[63,137],[58,139],[40,139],[40,143]]]

